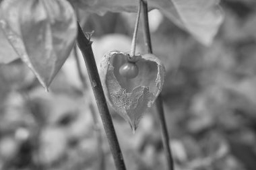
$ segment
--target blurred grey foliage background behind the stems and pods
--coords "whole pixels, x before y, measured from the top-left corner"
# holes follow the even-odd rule
[[[158,10],[152,46],[166,67],[162,96],[177,170],[255,170],[256,2],[223,0],[225,19],[212,46],[199,44]],[[129,52],[134,13],[83,17],[97,64],[110,50]],[[142,23],[137,52],[145,52]],[[0,169],[115,169],[81,54],[49,93],[20,60],[0,65]],[[111,110],[127,169],[166,169],[155,106],[135,134]]]

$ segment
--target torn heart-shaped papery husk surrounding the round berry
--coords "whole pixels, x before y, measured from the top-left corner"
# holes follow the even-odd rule
[[[100,64],[104,93],[114,108],[136,130],[141,116],[154,103],[164,84],[164,66],[153,54],[135,56],[137,76],[127,79],[120,68],[129,62],[129,54],[111,51]]]

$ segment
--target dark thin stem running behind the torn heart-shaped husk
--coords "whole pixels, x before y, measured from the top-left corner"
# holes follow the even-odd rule
[[[146,48],[148,49],[148,53],[152,54],[153,50],[152,50],[152,43],[150,38],[150,27],[148,23],[148,3],[143,0],[140,0],[140,2],[143,6],[143,23],[144,23],[143,25],[144,25],[145,44],[146,44]],[[160,126],[162,131],[162,143],[163,143],[164,151],[166,154],[168,169],[173,170],[174,163],[173,163],[172,154],[171,154],[170,145],[169,145],[169,136],[168,136],[168,130],[167,130],[167,126],[164,118],[164,108],[163,108],[161,93],[156,99],[156,110],[158,112],[158,117],[160,120]]]

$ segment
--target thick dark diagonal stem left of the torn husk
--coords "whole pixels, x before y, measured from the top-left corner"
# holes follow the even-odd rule
[[[106,132],[106,138],[110,146],[110,151],[113,154],[115,161],[115,166],[117,170],[125,170],[125,163],[123,161],[123,154],[121,153],[121,148],[117,140],[117,134],[115,133],[115,128],[110,116],[108,105],[106,104],[106,98],[104,96],[104,91],[102,89],[102,84],[100,82],[100,76],[98,74],[98,69],[94,59],[94,53],[92,52],[92,42],[86,38],[82,28],[77,22],[78,34],[77,34],[77,44],[82,51],[84,56],[84,61],[86,62],[86,67],[88,75],[90,77],[92,90],[94,91],[94,96],[96,103],[98,105],[98,110],[100,112],[100,117],[103,122],[104,130]]]

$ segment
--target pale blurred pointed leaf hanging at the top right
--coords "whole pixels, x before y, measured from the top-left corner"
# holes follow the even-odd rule
[[[172,7],[164,4],[160,6],[160,10],[207,46],[212,43],[223,21],[222,10],[217,0],[172,0]]]

